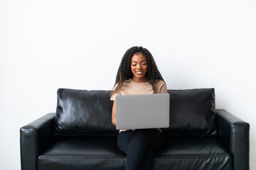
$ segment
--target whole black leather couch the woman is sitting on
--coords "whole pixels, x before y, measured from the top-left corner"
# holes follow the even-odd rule
[[[168,90],[170,127],[154,170],[247,170],[250,125],[215,110],[214,89]],[[124,169],[110,91],[58,89],[56,113],[20,129],[22,170]]]

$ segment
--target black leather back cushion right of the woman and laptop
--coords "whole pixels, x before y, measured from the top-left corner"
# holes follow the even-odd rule
[[[214,89],[168,90],[171,135],[216,135]]]

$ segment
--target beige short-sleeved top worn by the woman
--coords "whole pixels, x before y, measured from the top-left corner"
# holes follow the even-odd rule
[[[116,85],[117,86],[117,85]],[[114,86],[114,88],[116,87]],[[167,94],[167,89],[166,85],[164,84],[164,81],[157,79],[156,83],[156,94]],[[124,81],[123,86],[117,91],[117,93],[112,94],[110,100],[115,101],[115,96],[117,95],[133,95],[133,94],[153,94],[154,91],[152,89],[151,84],[149,82],[144,82],[144,83],[137,83],[131,79],[128,79]],[[132,129],[135,130],[135,129]],[[158,128],[160,132],[161,129]],[[119,130],[119,132],[122,132],[125,130]]]

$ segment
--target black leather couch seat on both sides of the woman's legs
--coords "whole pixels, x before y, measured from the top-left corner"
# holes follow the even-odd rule
[[[231,169],[230,154],[216,137],[165,138],[154,154],[154,170]],[[125,160],[115,136],[61,137],[39,153],[38,170],[124,169]]]

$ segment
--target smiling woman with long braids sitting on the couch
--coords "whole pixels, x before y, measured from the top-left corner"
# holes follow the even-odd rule
[[[114,101],[113,125],[117,125],[115,96],[167,93],[165,81],[149,50],[137,46],[129,48],[122,57],[114,88],[110,94],[110,100]],[[161,147],[163,141],[161,132],[160,128],[119,130],[117,145],[127,154],[125,170],[153,169],[154,152]]]

